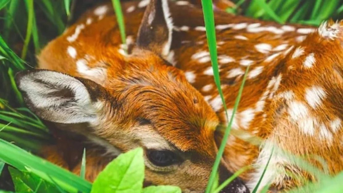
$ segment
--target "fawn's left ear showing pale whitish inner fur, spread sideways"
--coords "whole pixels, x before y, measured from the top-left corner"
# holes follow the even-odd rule
[[[87,79],[49,70],[22,71],[15,79],[29,109],[47,121],[94,122],[103,105],[104,88]]]

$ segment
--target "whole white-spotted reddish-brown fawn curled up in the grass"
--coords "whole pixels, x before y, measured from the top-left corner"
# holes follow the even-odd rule
[[[62,138],[44,156],[77,173],[80,159],[70,144],[78,141],[66,142],[71,134],[61,133],[87,137],[105,148],[87,150],[92,181],[113,156],[141,146],[146,183],[203,192],[228,121],[214,85],[202,10],[188,1],[124,2],[128,36],[122,45],[110,9],[102,4],[87,11],[51,41],[38,56],[38,68],[47,70],[16,77],[28,107]],[[317,180],[286,152],[318,155],[329,174],[341,171],[343,22],[315,29],[221,10],[214,16],[229,117],[250,66],[220,178],[247,165],[253,169],[224,192],[252,190],[270,155],[259,190],[271,184],[270,191],[279,192],[302,185],[301,178]],[[254,144],[255,137],[263,143]]]

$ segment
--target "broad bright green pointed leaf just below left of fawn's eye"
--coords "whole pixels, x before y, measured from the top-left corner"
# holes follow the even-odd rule
[[[119,155],[95,179],[91,193],[141,193],[144,180],[143,149]]]

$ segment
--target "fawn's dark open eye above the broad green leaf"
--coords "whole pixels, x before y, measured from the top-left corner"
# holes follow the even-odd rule
[[[149,149],[146,153],[149,161],[159,167],[171,166],[181,162],[181,158],[174,152],[166,149]]]

